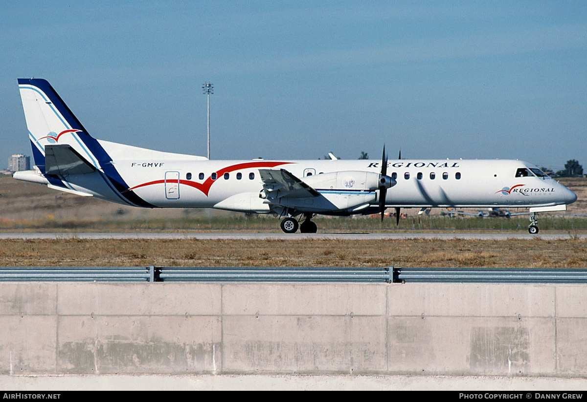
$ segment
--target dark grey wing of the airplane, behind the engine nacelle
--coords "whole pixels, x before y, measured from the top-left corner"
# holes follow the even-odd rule
[[[306,198],[320,195],[315,189],[285,169],[259,169],[268,199],[279,197]]]

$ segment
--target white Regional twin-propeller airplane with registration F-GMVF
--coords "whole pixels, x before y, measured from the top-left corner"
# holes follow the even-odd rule
[[[521,161],[367,159],[209,161],[90,136],[48,81],[19,79],[34,169],[14,178],[124,205],[276,213],[285,233],[315,233],[317,214],[387,207],[529,207],[566,210],[576,195]],[[390,172],[388,175],[387,172]]]

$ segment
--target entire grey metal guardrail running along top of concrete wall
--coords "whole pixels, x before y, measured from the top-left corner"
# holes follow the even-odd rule
[[[0,267],[14,281],[587,284],[587,268]]]

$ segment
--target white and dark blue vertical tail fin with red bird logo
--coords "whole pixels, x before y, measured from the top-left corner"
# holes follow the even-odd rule
[[[35,165],[45,173],[45,146],[66,144],[96,169],[110,158],[90,137],[53,87],[42,79],[19,79],[22,107]]]

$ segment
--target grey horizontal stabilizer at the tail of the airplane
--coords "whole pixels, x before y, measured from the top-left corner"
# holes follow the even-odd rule
[[[95,172],[90,165],[70,145],[45,145],[45,173],[47,175],[85,175]]]

